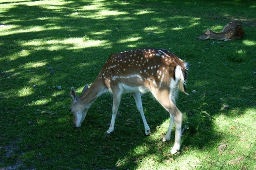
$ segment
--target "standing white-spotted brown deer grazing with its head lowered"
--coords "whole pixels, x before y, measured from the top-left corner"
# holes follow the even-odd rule
[[[77,97],[72,87],[71,112],[74,126],[80,127],[91,104],[103,93],[113,95],[112,118],[107,133],[114,130],[115,118],[123,93],[132,93],[145,127],[150,128],[143,113],[141,95],[150,91],[156,100],[170,113],[170,125],[163,141],[169,141],[173,124],[176,124],[174,146],[171,154],[180,150],[182,113],[175,105],[178,90],[186,93],[187,63],[165,49],[135,49],[112,54],[106,61],[91,87],[86,85]],[[187,94],[187,93],[186,93]]]

